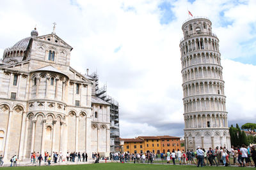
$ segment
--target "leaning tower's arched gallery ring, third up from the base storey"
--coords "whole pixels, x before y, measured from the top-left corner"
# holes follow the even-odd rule
[[[200,94],[224,95],[224,83],[222,81],[189,81],[184,83],[183,96],[195,96]]]

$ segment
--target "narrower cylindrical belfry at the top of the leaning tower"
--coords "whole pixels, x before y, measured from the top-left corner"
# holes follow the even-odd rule
[[[200,34],[212,35],[212,22],[206,17],[192,17],[182,24],[184,39]]]

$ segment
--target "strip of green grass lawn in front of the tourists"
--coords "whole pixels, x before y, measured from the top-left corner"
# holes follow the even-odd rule
[[[0,169],[12,169],[14,167],[0,167]],[[26,166],[26,167],[15,167],[14,169],[118,169],[118,170],[129,170],[129,169],[198,169],[196,166],[173,166],[173,165],[159,165],[159,164],[121,164],[121,163],[100,163],[100,164],[83,164],[83,165],[70,165],[70,166]],[[244,169],[242,167],[200,167],[200,169]]]

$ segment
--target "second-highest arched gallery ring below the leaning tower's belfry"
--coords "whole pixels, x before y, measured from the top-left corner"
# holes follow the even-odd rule
[[[184,55],[181,58],[182,69],[185,67],[193,66],[196,64],[220,64],[220,53],[216,52],[202,52],[202,53],[190,53]]]

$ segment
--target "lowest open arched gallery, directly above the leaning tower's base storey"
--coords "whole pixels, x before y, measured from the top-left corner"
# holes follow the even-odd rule
[[[203,128],[203,127],[228,127],[227,114],[210,113],[198,114],[193,113],[184,116],[185,129]]]

